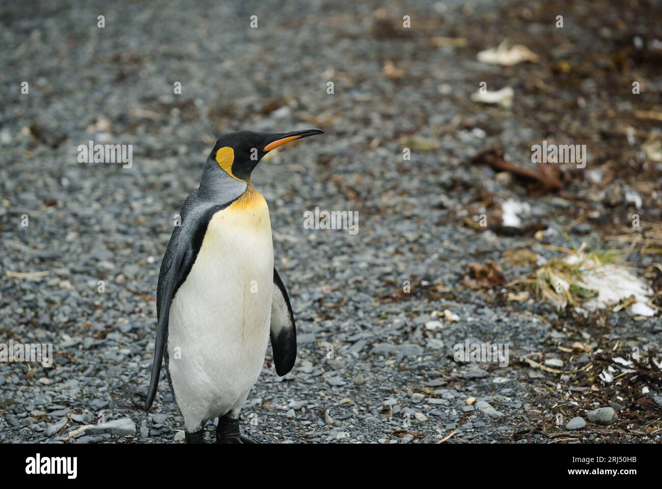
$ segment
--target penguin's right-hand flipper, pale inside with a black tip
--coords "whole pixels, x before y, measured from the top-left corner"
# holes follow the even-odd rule
[[[292,370],[297,359],[297,329],[287,290],[276,269],[273,269],[273,298],[271,299],[271,349],[276,373],[284,376]]]

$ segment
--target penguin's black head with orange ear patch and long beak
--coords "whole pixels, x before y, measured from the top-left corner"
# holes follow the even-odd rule
[[[286,142],[322,133],[324,131],[320,129],[301,129],[289,133],[228,133],[216,141],[209,158],[235,180],[248,182],[251,172],[269,151]]]

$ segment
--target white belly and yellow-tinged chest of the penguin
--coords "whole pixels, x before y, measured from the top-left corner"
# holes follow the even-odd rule
[[[169,372],[185,426],[237,414],[269,341],[273,245],[255,190],[214,214],[170,308]]]

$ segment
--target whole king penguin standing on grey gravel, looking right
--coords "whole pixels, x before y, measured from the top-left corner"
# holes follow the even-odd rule
[[[217,443],[254,443],[240,433],[238,417],[260,376],[269,339],[276,373],[284,376],[294,365],[297,333],[273,266],[269,207],[250,177],[267,152],[322,132],[222,136],[199,188],[181,207],[181,225],[173,229],[159,273],[146,409],[165,357],[187,443],[204,443],[205,425],[215,417]]]

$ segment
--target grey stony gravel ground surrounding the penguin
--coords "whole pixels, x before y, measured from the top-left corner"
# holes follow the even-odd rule
[[[278,378],[267,351],[242,411],[250,437],[660,443],[659,311],[557,311],[526,285],[506,288],[535,264],[504,260],[508,250],[551,258],[553,246],[568,246],[561,232],[537,234],[545,229],[563,226],[573,242],[596,245],[624,233],[634,212],[649,223],[644,233],[660,223],[662,168],[640,150],[655,120],[635,113],[661,107],[662,56],[659,46],[628,51],[633,36],[645,46],[661,38],[659,5],[105,4],[0,7],[0,341],[54,345],[51,368],[0,363],[0,443],[183,443],[167,382],[149,413],[137,406],[173,215],[218,136],[303,127],[326,134],[282,148],[254,172],[299,354]],[[476,60],[506,36],[534,50],[538,64]],[[632,80],[645,87],[639,98]],[[470,101],[481,81],[514,87],[512,109]],[[536,192],[469,164],[496,146],[526,166],[532,141],[545,138],[587,144],[587,170],[611,178],[595,184],[576,170],[562,191]],[[88,140],[132,144],[132,167],[78,163]],[[518,229],[495,211],[508,197],[531,207]],[[358,233],[304,229],[314,207],[358,211]],[[483,212],[487,227],[471,225]],[[505,280],[472,287],[467,266],[487,260]],[[659,252],[628,260],[641,274],[662,261]],[[659,290],[659,276],[649,278]],[[456,361],[453,345],[467,339],[508,344],[508,366]],[[600,378],[620,372],[613,358],[627,360],[635,347],[635,368]],[[610,411],[589,415],[598,407],[613,408],[616,421]],[[571,419],[585,427],[566,429]]]

